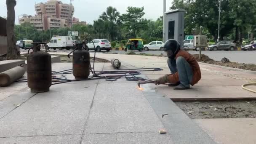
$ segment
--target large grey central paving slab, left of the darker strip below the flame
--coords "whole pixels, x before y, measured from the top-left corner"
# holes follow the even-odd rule
[[[157,132],[163,128],[136,86],[135,83],[99,84],[85,133]]]

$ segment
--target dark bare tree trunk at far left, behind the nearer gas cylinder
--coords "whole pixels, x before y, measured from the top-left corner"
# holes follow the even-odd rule
[[[6,0],[7,59],[17,59],[17,48],[15,44],[15,35],[14,35],[15,5],[16,5],[16,0]]]

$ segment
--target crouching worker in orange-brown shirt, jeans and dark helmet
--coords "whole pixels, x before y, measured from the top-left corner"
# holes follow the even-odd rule
[[[201,71],[197,60],[187,51],[180,49],[176,40],[165,42],[164,51],[168,56],[168,66],[171,75],[160,77],[156,85],[169,83],[176,86],[174,90],[186,90],[190,85],[195,85],[201,79]]]

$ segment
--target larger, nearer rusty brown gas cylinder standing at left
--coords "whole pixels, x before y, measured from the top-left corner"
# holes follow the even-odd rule
[[[51,86],[51,55],[40,51],[40,44],[32,43],[33,52],[27,56],[27,84],[34,93],[49,91]]]

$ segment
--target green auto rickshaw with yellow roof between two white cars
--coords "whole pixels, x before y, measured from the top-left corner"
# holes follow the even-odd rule
[[[139,38],[132,38],[129,39],[127,44],[125,45],[125,51],[133,51],[133,50],[138,50],[138,51],[143,51],[143,40]]]

